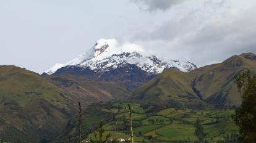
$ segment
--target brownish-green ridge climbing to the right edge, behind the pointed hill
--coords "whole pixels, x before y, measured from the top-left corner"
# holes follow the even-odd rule
[[[222,63],[210,65],[192,71],[197,73],[195,88],[200,91],[202,98],[213,104],[239,105],[241,95],[237,92],[234,77],[250,68],[255,70],[256,61],[234,55]]]

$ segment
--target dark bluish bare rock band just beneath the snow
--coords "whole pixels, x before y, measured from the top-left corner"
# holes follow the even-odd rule
[[[108,68],[106,71],[94,71],[90,68],[77,65],[59,68],[53,75],[83,76],[93,80],[114,81],[126,85],[128,89],[135,89],[157,76],[157,74],[147,73],[137,67],[137,65],[126,63],[118,68]]]

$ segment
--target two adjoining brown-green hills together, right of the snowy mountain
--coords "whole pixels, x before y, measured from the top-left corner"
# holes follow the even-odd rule
[[[189,72],[165,70],[157,78],[135,90],[131,100],[169,107],[209,108],[211,105],[241,104],[234,77],[249,68],[256,70],[256,55],[234,55],[222,63]]]

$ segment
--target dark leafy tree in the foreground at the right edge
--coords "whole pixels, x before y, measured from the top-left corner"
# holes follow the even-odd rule
[[[236,76],[235,80],[242,94],[242,104],[236,109],[233,119],[240,128],[243,142],[256,141],[256,74],[246,70]]]

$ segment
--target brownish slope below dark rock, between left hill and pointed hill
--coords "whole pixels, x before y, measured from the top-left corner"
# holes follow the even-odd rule
[[[72,100],[82,105],[106,101],[111,99],[124,100],[130,92],[123,84],[111,81],[98,81],[82,76],[50,75],[43,76],[72,96]]]

